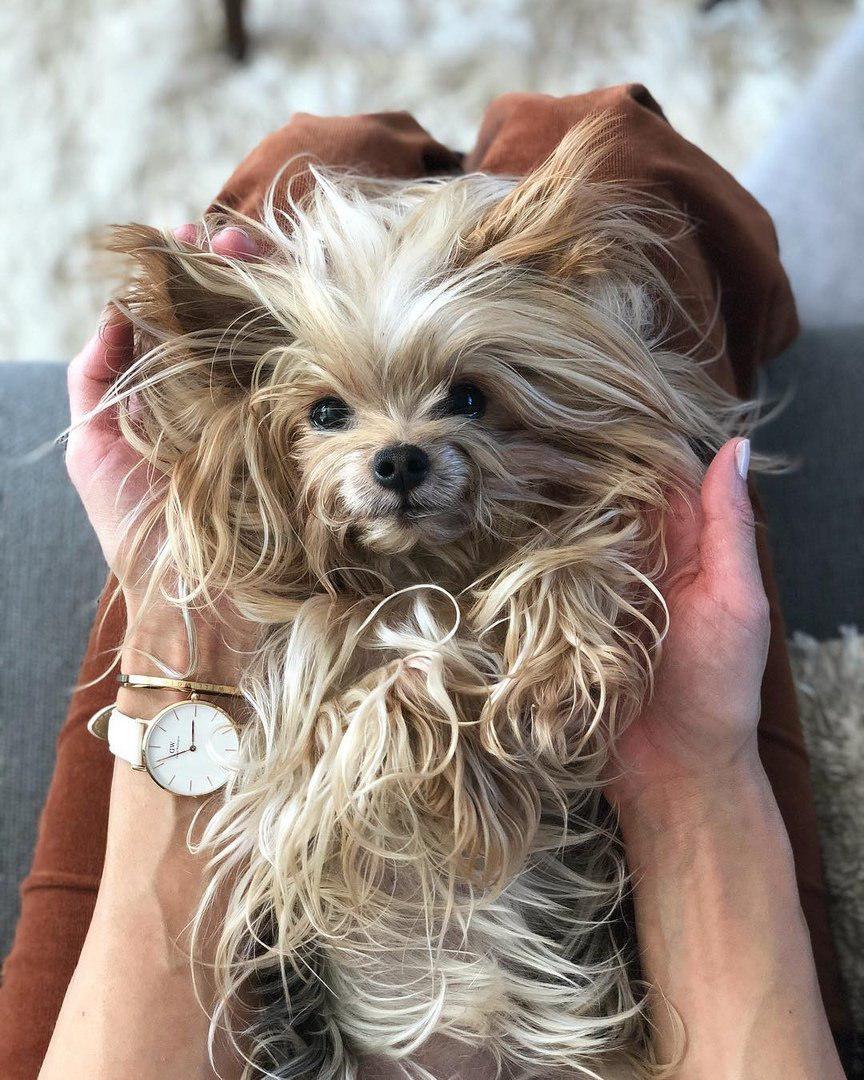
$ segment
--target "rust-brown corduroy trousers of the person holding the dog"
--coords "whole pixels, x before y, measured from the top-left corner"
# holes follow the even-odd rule
[[[670,265],[676,267],[676,291],[704,325],[719,311],[711,341],[720,354],[714,376],[728,390],[750,393],[756,364],[775,355],[797,332],[774,230],[765,211],[728,173],[669,125],[643,86],[613,86],[564,98],[504,95],[487,110],[476,146],[464,157],[436,143],[404,112],[349,118],[297,114],[252,151],[216,202],[255,215],[268,185],[292,158],[280,183],[295,193],[308,183],[310,159],[388,177],[462,171],[519,175],[538,165],[573,124],[596,113],[609,122],[603,136],[604,178],[660,197],[692,222],[692,231],[676,241]],[[759,745],[795,851],[828,1017],[839,1032],[847,1017],[828,929],[810,774],[764,532],[759,550],[772,612]],[[96,627],[98,622],[97,617]],[[94,629],[82,683],[104,670],[107,650],[118,644],[122,630],[120,608],[109,612],[100,630]],[[78,691],[57,743],[54,779],[0,987],[4,1080],[37,1076],[93,912],[105,849],[111,757],[85,725],[113,692],[110,679]]]

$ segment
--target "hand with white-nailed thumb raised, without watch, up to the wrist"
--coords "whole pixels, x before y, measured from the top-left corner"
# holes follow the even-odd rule
[[[720,448],[667,528],[670,627],[654,692],[621,737],[607,795],[620,812],[758,769],[756,727],[769,610],[746,485],[750,444]],[[743,474],[743,475],[742,475]]]

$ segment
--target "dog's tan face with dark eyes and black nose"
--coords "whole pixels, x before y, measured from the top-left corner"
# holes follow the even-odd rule
[[[433,320],[408,314],[377,343],[364,333],[379,312],[375,294],[359,301],[368,318],[354,314],[336,348],[298,328],[291,389],[273,407],[286,413],[298,527],[315,549],[326,536],[337,562],[350,551],[361,562],[434,561],[475,576],[478,559],[544,516],[526,513],[553,494],[559,471],[561,438],[531,423],[546,395],[530,373],[501,363],[501,326],[496,351],[482,299],[458,285],[442,295]]]

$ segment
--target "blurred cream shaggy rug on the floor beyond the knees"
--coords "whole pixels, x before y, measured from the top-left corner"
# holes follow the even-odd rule
[[[794,106],[853,0],[219,0],[0,4],[0,359],[65,360],[112,269],[109,221],[178,225],[297,109],[406,108],[465,148],[510,90],[645,82],[732,170]]]

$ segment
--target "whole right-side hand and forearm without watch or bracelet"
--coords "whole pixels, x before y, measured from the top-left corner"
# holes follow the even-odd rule
[[[669,633],[606,792],[632,875],[658,1058],[677,1059],[674,1076],[688,1080],[840,1080],[757,747],[770,626],[747,450],[742,440],[721,447],[669,522]]]

